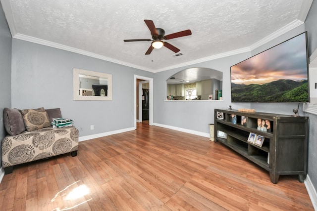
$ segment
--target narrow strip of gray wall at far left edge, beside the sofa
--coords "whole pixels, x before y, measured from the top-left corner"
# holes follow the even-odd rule
[[[11,108],[11,40],[10,30],[0,4],[0,140],[6,135],[3,127],[3,108]]]

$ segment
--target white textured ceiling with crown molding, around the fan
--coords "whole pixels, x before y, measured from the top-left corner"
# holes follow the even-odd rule
[[[313,0],[1,0],[13,38],[159,72],[250,51],[304,23]],[[145,55],[144,19],[165,34],[190,29]]]

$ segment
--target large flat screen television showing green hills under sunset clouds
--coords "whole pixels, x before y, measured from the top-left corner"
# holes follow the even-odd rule
[[[307,32],[231,66],[232,102],[309,102]]]

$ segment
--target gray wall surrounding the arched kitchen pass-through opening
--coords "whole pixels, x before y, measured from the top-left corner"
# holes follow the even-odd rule
[[[230,96],[230,66],[250,57],[250,53],[242,53],[235,56],[220,58],[212,61],[202,62],[195,65],[176,68],[169,71],[155,74],[154,81],[154,121],[155,123],[191,129],[199,132],[209,133],[209,125],[213,124],[214,108],[249,108],[250,104],[233,104]],[[166,80],[175,73],[191,68],[206,67],[223,72],[222,98],[223,102],[218,101],[164,101],[166,93]]]

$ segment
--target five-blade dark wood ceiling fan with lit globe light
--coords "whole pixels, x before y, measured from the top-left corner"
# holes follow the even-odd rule
[[[147,50],[147,52],[145,53],[145,55],[149,55],[154,48],[161,48],[162,46],[165,46],[168,49],[170,49],[170,50],[174,51],[175,53],[177,53],[178,51],[180,51],[180,49],[178,49],[177,47],[175,47],[174,45],[172,45],[172,44],[170,44],[168,42],[163,42],[162,40],[171,40],[171,39],[174,39],[174,38],[184,37],[184,36],[188,36],[188,35],[192,34],[192,32],[188,29],[188,30],[185,30],[185,31],[181,31],[181,32],[176,32],[176,33],[173,33],[173,34],[165,35],[165,31],[163,29],[161,29],[161,28],[156,28],[152,20],[144,20],[144,22],[149,27],[153,40],[150,40],[150,39],[136,39],[136,40],[123,40],[123,41],[124,42],[152,41],[152,44],[149,47],[149,49]]]

